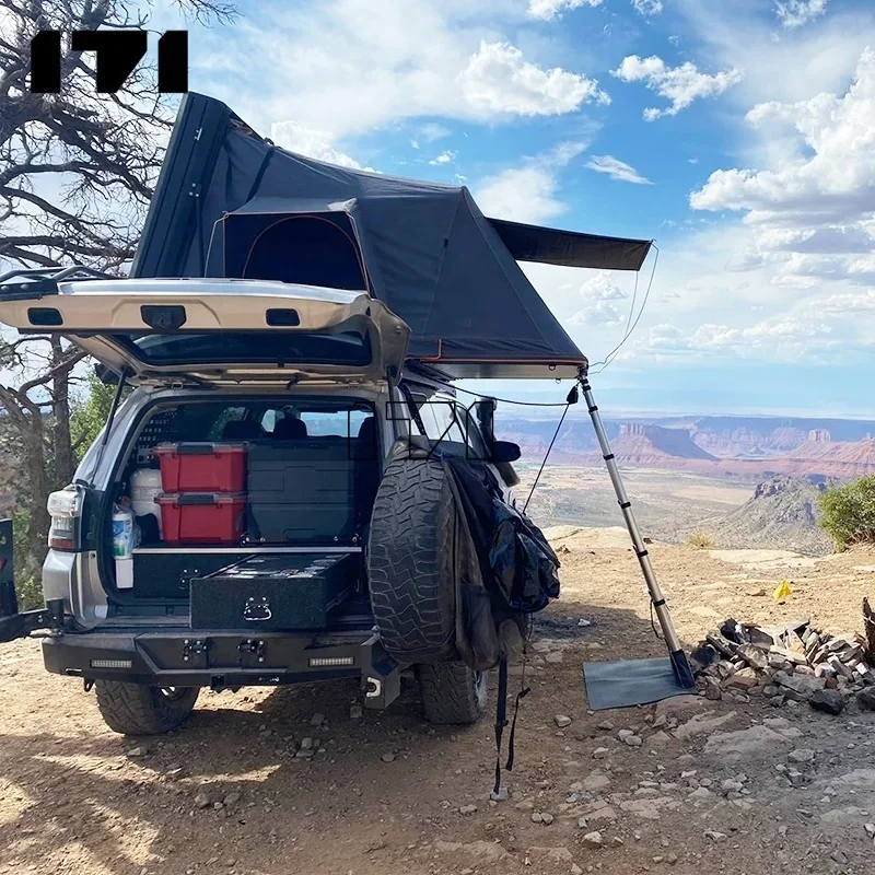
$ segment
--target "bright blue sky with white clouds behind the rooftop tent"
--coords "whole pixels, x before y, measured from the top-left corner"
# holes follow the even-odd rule
[[[281,145],[464,183],[500,218],[656,238],[644,313],[594,377],[605,408],[875,412],[872,3],[238,8],[191,27],[190,86]],[[631,275],[525,269],[595,362],[650,268],[634,310]]]

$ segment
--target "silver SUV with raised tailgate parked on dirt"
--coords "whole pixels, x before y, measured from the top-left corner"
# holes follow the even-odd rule
[[[46,668],[93,685],[104,720],[125,734],[173,730],[202,687],[360,677],[365,705],[389,704],[411,666],[387,652],[387,628],[410,611],[428,625],[429,599],[452,595],[440,510],[421,489],[405,505],[404,483],[378,498],[386,459],[417,431],[447,452],[485,458],[490,447],[511,501],[518,448],[492,440],[489,405],[470,416],[438,372],[404,370],[409,329],[366,292],[31,273],[0,287],[0,320],[63,334],[124,378],[75,481],[49,499],[46,609],[15,614],[0,583],[0,640],[48,626]],[[156,494],[168,474],[158,470],[162,445],[177,462],[206,454],[207,475],[217,452],[245,450],[248,500]],[[122,573],[113,520],[131,499],[139,546]],[[410,567],[376,555],[405,538],[420,551]],[[393,604],[392,575],[421,599]],[[416,669],[428,719],[480,716],[482,673],[442,661]]]

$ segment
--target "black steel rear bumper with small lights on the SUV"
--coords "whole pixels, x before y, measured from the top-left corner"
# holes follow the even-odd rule
[[[43,640],[43,660],[54,674],[86,680],[213,690],[360,677],[371,708],[385,708],[400,692],[401,665],[372,632],[330,639],[188,630],[66,633]]]

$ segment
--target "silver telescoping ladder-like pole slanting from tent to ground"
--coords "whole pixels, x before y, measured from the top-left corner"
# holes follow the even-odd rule
[[[598,407],[593,398],[592,386],[586,377],[586,372],[583,370],[581,371],[580,383],[581,389],[583,390],[583,397],[586,400],[586,407],[590,410],[590,417],[593,420],[593,428],[595,429],[595,435],[598,439],[598,445],[602,447],[602,457],[605,459],[608,474],[610,475],[610,481],[614,483],[614,491],[617,494],[617,501],[620,505],[620,510],[622,511],[623,518],[626,520],[626,527],[629,529],[629,535],[632,538],[632,546],[634,547],[635,556],[638,557],[638,561],[641,565],[641,572],[644,575],[644,581],[646,582],[648,590],[650,591],[650,599],[653,604],[653,609],[656,611],[656,617],[660,620],[665,643],[668,646],[668,655],[672,660],[672,667],[674,668],[675,677],[677,678],[679,686],[695,687],[696,680],[692,676],[692,669],[690,668],[687,654],[684,652],[684,648],[680,645],[680,639],[677,637],[677,632],[675,631],[675,625],[672,622],[672,615],[668,612],[668,606],[665,603],[663,591],[660,588],[660,584],[656,581],[656,575],[653,573],[653,567],[650,563],[650,556],[648,553],[646,545],[641,537],[641,532],[638,528],[638,523],[635,522],[634,514],[632,513],[632,503],[629,501],[629,495],[626,493],[626,487],[623,486],[622,478],[620,477],[620,469],[617,466],[617,459],[614,457],[614,453],[610,452],[610,443],[608,442],[608,436],[605,433],[605,427],[602,424],[602,416],[599,415]]]

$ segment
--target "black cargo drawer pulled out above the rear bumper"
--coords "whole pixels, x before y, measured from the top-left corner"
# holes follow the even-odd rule
[[[324,629],[355,588],[360,553],[250,556],[191,581],[191,628],[258,634]]]

